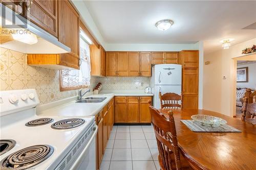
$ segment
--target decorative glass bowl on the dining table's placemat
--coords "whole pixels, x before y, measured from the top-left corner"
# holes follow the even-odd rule
[[[209,126],[209,127],[218,127],[220,125],[225,125],[227,123],[226,120],[220,117],[204,115],[204,114],[192,115],[191,118],[194,120],[194,122],[199,123],[203,126]]]

